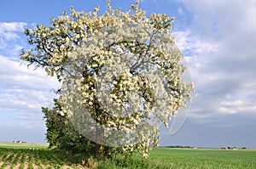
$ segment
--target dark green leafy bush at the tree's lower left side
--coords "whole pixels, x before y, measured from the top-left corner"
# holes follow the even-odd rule
[[[67,115],[61,115],[61,104],[58,99],[54,99],[54,107],[42,108],[44,121],[47,127],[46,139],[49,147],[72,150],[73,152],[87,152],[95,149],[95,144],[84,138],[77,132]]]

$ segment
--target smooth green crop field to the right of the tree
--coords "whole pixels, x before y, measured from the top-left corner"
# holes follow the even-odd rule
[[[256,168],[256,150],[153,149],[150,160],[159,168]]]

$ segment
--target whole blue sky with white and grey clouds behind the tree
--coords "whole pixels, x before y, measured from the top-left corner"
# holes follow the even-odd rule
[[[133,2],[112,6],[126,10]],[[58,87],[44,70],[20,62],[20,49],[29,48],[24,29],[49,25],[70,6],[96,5],[106,9],[104,0],[0,2],[0,141],[44,143],[41,107],[52,104]],[[195,85],[186,121],[173,135],[162,127],[160,145],[256,149],[256,1],[143,0],[140,7],[176,17],[172,34]]]

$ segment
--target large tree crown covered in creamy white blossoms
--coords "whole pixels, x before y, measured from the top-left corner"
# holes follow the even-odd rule
[[[57,76],[61,114],[86,138],[143,156],[158,145],[159,125],[191,99],[183,54],[172,37],[173,17],[138,8],[98,16],[71,8],[51,25],[27,29],[32,48],[20,59]]]

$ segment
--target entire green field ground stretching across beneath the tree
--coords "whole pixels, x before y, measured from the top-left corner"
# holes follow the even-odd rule
[[[114,160],[84,159],[76,164],[44,144],[0,143],[0,169],[5,168],[256,168],[256,150],[153,149],[148,159],[140,155]],[[77,161],[83,157],[73,156]]]

